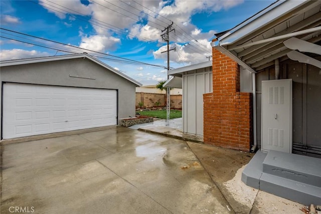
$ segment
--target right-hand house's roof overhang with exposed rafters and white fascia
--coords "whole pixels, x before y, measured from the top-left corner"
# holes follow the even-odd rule
[[[293,38],[301,45],[289,45]],[[320,43],[321,1],[287,0],[273,3],[211,45],[249,71],[259,72],[307,44],[311,48],[303,52],[315,53]]]

